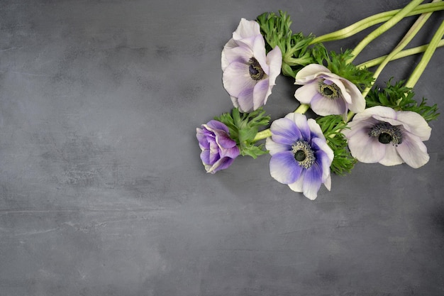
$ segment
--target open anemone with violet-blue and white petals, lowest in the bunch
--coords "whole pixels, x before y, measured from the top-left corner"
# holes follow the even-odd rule
[[[265,147],[272,155],[270,174],[275,180],[312,200],[321,184],[330,190],[333,150],[314,119],[290,113],[273,121],[270,131]]]

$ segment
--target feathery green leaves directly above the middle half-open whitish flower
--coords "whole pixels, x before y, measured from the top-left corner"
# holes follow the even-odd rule
[[[353,57],[352,50],[345,50],[341,53],[331,51],[326,59],[326,67],[336,75],[355,84],[362,92],[367,87],[372,87],[373,73],[367,70],[366,67],[360,68],[348,62],[351,57]]]

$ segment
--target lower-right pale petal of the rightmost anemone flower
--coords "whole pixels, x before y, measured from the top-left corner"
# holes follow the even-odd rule
[[[421,141],[421,138],[411,133],[402,134],[402,143],[396,147],[402,160],[412,168],[420,168],[428,163],[430,157],[427,153],[427,147]]]

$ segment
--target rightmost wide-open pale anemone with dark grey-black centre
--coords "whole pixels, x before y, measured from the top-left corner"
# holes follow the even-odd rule
[[[425,165],[429,156],[423,141],[431,127],[413,111],[374,106],[358,113],[343,131],[352,155],[362,163]]]

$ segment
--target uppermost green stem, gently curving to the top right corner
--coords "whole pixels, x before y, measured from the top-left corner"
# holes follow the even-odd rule
[[[443,2],[421,4],[416,6],[416,8],[410,11],[409,13],[407,13],[406,16],[415,16],[417,14],[427,13],[431,11],[440,11],[443,9],[444,9]],[[369,16],[367,18],[363,18],[361,21],[357,21],[356,23],[353,23],[348,27],[345,27],[343,29],[340,29],[332,33],[327,33],[325,35],[318,36],[313,40],[311,40],[310,44],[348,38],[352,35],[355,35],[356,33],[359,33],[360,31],[365,30],[366,28],[370,28],[371,26],[374,26],[378,23],[383,23],[384,21],[388,21],[396,13],[399,13],[399,11],[401,11],[401,9],[385,11],[382,13],[374,14],[373,16]]]

